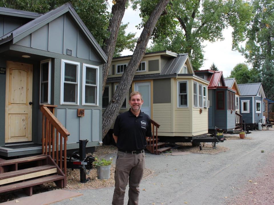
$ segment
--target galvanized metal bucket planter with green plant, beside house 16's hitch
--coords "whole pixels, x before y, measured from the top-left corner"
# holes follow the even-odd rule
[[[97,169],[97,178],[98,179],[109,179],[110,178],[110,167],[112,163],[112,157],[109,160],[102,158],[93,162],[93,165]]]

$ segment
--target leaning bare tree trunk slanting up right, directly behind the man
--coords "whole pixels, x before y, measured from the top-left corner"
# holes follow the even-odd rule
[[[136,48],[128,63],[126,70],[124,71],[121,81],[116,89],[110,103],[108,104],[106,110],[102,116],[102,136],[104,137],[113,120],[116,119],[118,112],[128,94],[128,90],[132,83],[134,74],[136,69],[138,68],[139,64],[141,63],[142,58],[146,52],[146,46],[148,44],[148,40],[151,37],[152,31],[160,18],[162,12],[164,11],[166,5],[170,0],[160,0],[159,3],[156,5],[154,11],[150,14],[148,21],[146,22],[144,29],[140,35],[140,38],[137,41]]]

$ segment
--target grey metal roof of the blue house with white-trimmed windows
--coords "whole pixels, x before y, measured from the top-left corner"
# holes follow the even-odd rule
[[[238,87],[241,92],[241,96],[256,96],[260,91],[262,97],[265,98],[262,83],[238,84]]]

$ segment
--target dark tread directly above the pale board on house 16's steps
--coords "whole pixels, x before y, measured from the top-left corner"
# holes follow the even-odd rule
[[[51,169],[56,169],[56,166],[54,166],[54,165],[42,165],[42,166],[39,166],[39,167],[31,167],[31,168],[21,169],[21,170],[17,170],[17,171],[5,172],[5,173],[0,174],[0,185],[1,185],[1,180],[3,180],[3,179],[12,178],[12,177],[19,177],[19,176],[22,176],[22,175],[32,174],[32,173],[51,170]]]

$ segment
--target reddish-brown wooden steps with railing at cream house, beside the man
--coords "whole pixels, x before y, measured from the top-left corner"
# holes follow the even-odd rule
[[[171,147],[165,147],[166,143],[159,142],[158,128],[160,127],[160,125],[152,119],[150,121],[151,121],[151,125],[152,125],[152,137],[150,137],[148,139],[148,145],[147,145],[146,149],[148,151],[150,151],[150,153],[152,153],[152,154],[160,155],[161,152],[170,150]],[[154,128],[156,128],[156,133],[155,133]]]

